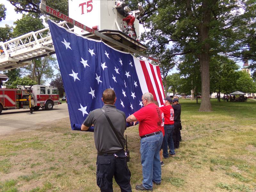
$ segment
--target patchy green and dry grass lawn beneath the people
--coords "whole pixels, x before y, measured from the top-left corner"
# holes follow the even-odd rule
[[[154,191],[256,191],[256,100],[217,102],[198,112],[181,99],[182,141],[164,159]],[[200,103],[200,100],[199,100]],[[126,131],[131,185],[142,181],[138,127]],[[93,133],[72,131],[69,119],[0,137],[0,191],[100,191]],[[113,180],[114,191],[120,191]]]

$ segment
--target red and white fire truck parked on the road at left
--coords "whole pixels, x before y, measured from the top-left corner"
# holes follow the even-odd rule
[[[46,85],[17,85],[17,89],[0,88],[0,114],[2,110],[32,108],[52,110],[60,104],[56,87]]]

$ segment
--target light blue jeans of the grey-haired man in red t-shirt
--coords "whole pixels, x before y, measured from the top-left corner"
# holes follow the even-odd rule
[[[153,182],[161,182],[161,164],[159,150],[163,142],[163,133],[144,137],[140,140],[140,154],[143,181],[142,185],[146,189],[153,188]]]

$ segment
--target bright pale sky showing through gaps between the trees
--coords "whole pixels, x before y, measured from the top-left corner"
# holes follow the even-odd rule
[[[21,13],[16,13],[14,11],[14,6],[12,4],[10,4],[9,1],[7,0],[1,0],[1,4],[4,4],[5,5],[5,8],[7,9],[6,10],[6,18],[5,20],[2,20],[0,22],[0,27],[5,27],[5,24],[8,24],[10,26],[14,26],[13,25],[13,22],[16,21],[17,19],[21,19],[22,17],[22,14]],[[44,22],[44,25],[47,26],[47,24]],[[143,28],[142,25],[140,25],[140,33],[141,32],[144,32],[145,31],[145,28]],[[243,66],[243,62],[237,62],[237,64],[242,68]],[[172,73],[177,73],[178,70],[177,70],[177,66],[175,66],[169,74],[172,74]],[[56,71],[57,73],[57,71]]]

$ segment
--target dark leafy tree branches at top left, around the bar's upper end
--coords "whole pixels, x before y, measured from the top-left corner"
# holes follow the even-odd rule
[[[42,12],[39,9],[39,4],[41,0],[8,0],[15,8],[16,12],[28,12],[35,13],[38,18],[42,16]],[[52,0],[47,1],[47,5],[62,12],[65,15],[68,15],[68,0]],[[52,20],[59,21],[59,19],[51,17]]]

